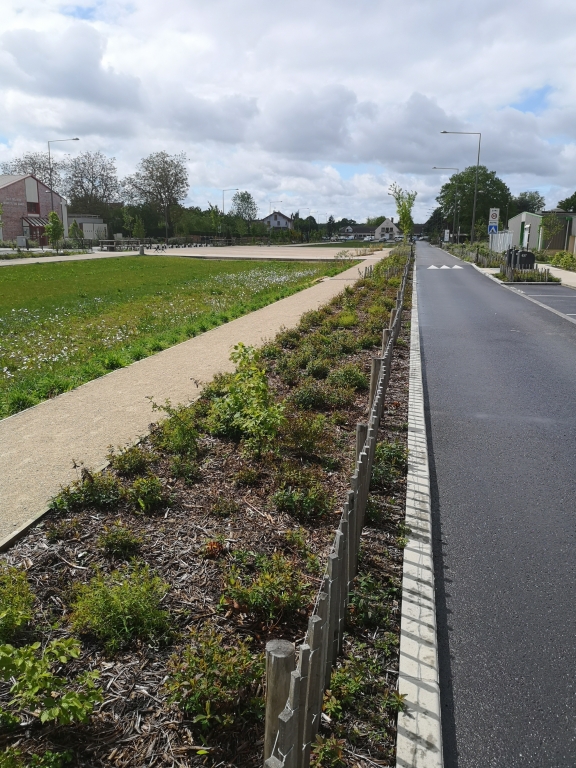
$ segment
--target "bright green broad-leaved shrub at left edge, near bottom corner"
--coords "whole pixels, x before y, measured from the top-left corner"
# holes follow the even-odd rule
[[[94,705],[102,701],[96,687],[99,673],[84,672],[70,682],[52,672],[53,666],[79,656],[80,644],[72,639],[52,640],[43,650],[40,643],[0,646],[0,679],[11,682],[8,714],[18,720],[20,714],[33,712],[41,723],[60,725],[86,722]]]

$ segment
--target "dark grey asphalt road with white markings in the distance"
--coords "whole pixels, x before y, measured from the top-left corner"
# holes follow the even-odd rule
[[[445,767],[574,768],[576,325],[417,250]]]

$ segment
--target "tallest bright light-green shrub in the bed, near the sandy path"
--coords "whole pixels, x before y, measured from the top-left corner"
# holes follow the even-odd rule
[[[252,347],[237,344],[230,356],[237,364],[226,394],[211,405],[212,434],[242,439],[249,454],[260,455],[273,446],[284,421],[284,407],[274,402],[266,372]]]

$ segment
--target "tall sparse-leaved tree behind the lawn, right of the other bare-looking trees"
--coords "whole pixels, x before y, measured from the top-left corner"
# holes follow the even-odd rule
[[[135,174],[123,180],[122,189],[127,202],[149,203],[163,213],[167,240],[170,207],[188,193],[186,155],[153,152],[140,161]]]

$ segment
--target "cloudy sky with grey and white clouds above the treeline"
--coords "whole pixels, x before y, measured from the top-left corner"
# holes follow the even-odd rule
[[[79,136],[61,151],[125,175],[184,151],[190,204],[239,187],[320,221],[394,214],[396,181],[423,221],[432,166],[476,161],[477,137],[440,131],[481,131],[481,161],[555,205],[576,189],[575,60],[569,0],[6,0],[0,160]]]

